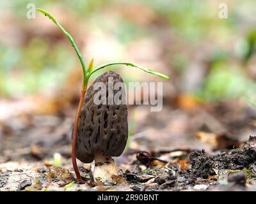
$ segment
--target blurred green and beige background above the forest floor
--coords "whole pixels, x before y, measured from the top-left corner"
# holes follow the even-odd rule
[[[28,3],[49,11],[72,34],[86,62],[131,61],[166,73],[170,96],[188,92],[202,101],[244,96],[255,102],[255,0],[2,0],[1,97],[60,89],[74,72],[81,82],[66,36],[41,13],[28,19]],[[220,3],[228,5],[227,19],[218,17]],[[151,79],[133,69],[111,69],[127,82]]]

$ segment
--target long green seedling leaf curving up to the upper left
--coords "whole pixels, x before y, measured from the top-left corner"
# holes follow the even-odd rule
[[[36,10],[40,11],[41,13],[43,13],[44,15],[46,15],[47,17],[49,17],[52,22],[54,22],[54,24],[56,24],[58,27],[60,27],[61,31],[68,37],[68,40],[70,41],[70,43],[72,44],[72,47],[74,47],[74,49],[76,50],[76,54],[79,57],[79,60],[81,62],[82,68],[83,68],[83,88],[86,86],[86,68],[84,66],[84,60],[83,57],[81,55],[81,52],[78,50],[76,43],[74,42],[74,39],[72,38],[72,36],[61,26],[61,24],[58,23],[58,21],[52,17],[52,15],[50,13],[48,13],[45,10],[42,10],[41,8],[36,8]]]

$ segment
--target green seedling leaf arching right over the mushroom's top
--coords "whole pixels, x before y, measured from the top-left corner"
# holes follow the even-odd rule
[[[170,77],[164,75],[163,73],[160,73],[158,71],[153,71],[152,69],[147,69],[147,68],[143,68],[141,66],[138,66],[134,63],[131,63],[131,62],[109,62],[109,63],[106,63],[106,64],[102,64],[100,66],[97,66],[95,69],[93,69],[93,71],[89,74],[89,77],[95,73],[96,71],[98,71],[99,69],[103,69],[103,68],[106,68],[107,66],[111,66],[111,65],[120,65],[120,64],[123,64],[123,65],[126,65],[126,66],[132,66],[134,68],[138,68],[138,69],[141,69],[142,71],[145,71],[147,73],[150,73],[152,75],[156,75],[158,77],[161,77],[161,78],[165,78],[165,79],[168,79]]]

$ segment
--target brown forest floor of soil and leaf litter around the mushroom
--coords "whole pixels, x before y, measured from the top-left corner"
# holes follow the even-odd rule
[[[95,182],[93,163],[78,161],[83,182],[77,184],[72,117],[23,113],[2,119],[0,191],[256,190],[256,111],[246,103],[164,107],[161,116],[143,106],[137,111],[147,120],[136,120],[129,148],[115,157],[123,175],[111,183]]]

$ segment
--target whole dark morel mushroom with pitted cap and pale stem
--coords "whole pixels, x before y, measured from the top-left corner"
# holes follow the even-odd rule
[[[95,89],[98,82],[106,85],[105,95],[99,97],[106,104],[95,103],[95,96],[97,93],[97,96],[100,96],[101,90]],[[102,180],[111,180],[112,175],[120,174],[112,156],[122,154],[128,136],[127,106],[124,103],[125,90],[122,90],[124,94],[122,94],[121,104],[113,99],[113,96],[120,92],[120,89],[113,89],[118,82],[124,83],[120,75],[113,71],[100,75],[86,92],[78,122],[76,157],[83,163],[91,163],[95,160],[93,175]]]

